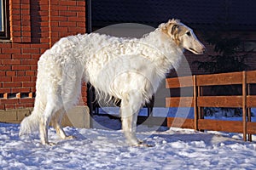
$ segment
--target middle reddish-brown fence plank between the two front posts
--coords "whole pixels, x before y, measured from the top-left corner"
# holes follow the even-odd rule
[[[242,107],[242,96],[199,96],[199,107]]]

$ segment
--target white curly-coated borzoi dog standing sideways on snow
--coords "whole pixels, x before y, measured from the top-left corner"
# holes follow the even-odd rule
[[[20,125],[20,135],[39,127],[42,144],[52,121],[61,139],[72,139],[61,127],[63,113],[79,101],[81,82],[90,82],[99,98],[121,100],[120,114],[129,144],[136,137],[137,114],[158,88],[165,73],[177,68],[187,49],[203,54],[204,45],[179,20],[169,20],[140,39],[96,33],[63,37],[38,61],[34,110]],[[107,97],[106,97],[107,96]]]

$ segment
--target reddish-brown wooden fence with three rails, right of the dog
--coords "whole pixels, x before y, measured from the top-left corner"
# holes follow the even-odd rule
[[[168,117],[167,126],[243,133],[245,141],[252,141],[252,134],[256,134],[256,122],[251,122],[251,108],[256,107],[256,95],[250,90],[253,84],[256,84],[256,71],[166,78],[166,88],[193,88],[191,96],[166,98],[166,107],[194,107],[195,113],[194,119]],[[204,87],[224,85],[241,86],[241,94],[207,96],[203,93]],[[204,119],[204,107],[241,108],[242,121]]]

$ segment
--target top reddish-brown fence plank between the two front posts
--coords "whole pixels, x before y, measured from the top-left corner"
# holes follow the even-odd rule
[[[241,84],[242,73],[231,72],[196,76],[196,86]]]

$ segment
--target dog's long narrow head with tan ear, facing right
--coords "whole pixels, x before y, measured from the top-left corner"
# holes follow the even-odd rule
[[[172,38],[180,48],[185,48],[194,54],[203,54],[206,50],[205,46],[195,36],[193,30],[179,20],[169,20],[167,23],[161,24],[159,28],[160,31]]]

